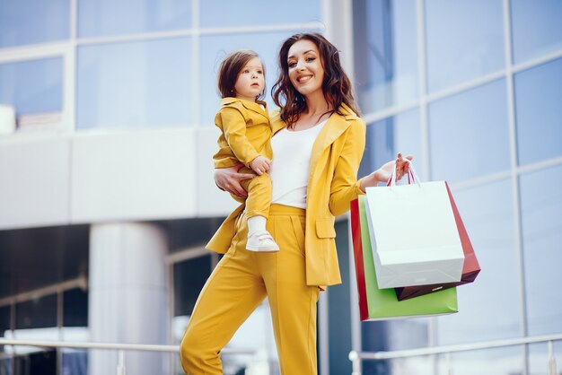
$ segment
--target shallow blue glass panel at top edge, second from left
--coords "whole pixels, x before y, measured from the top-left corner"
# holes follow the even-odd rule
[[[191,27],[191,0],[80,0],[78,36],[101,37]]]

